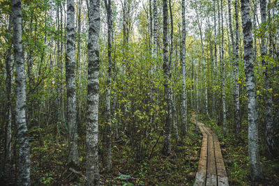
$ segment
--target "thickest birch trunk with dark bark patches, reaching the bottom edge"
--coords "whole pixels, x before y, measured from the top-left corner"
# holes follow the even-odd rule
[[[86,185],[99,185],[98,102],[99,102],[100,0],[89,1],[88,83],[86,125]]]

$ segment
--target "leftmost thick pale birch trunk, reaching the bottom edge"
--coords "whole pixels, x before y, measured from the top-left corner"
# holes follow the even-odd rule
[[[19,184],[31,185],[30,183],[30,151],[29,137],[26,122],[26,79],[22,53],[22,1],[13,0],[13,45],[15,54],[15,125],[17,126],[17,143],[20,151]]]

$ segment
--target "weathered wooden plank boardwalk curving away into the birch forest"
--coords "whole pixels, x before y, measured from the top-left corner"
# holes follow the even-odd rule
[[[191,119],[196,123],[195,112],[192,113]],[[197,125],[203,137],[194,186],[229,185],[218,137],[203,123],[197,122]]]

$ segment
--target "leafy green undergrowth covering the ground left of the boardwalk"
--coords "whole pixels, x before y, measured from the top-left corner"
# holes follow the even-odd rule
[[[57,130],[55,125],[45,129],[33,127],[29,130],[31,150],[32,185],[84,185],[86,167],[85,135],[79,137],[80,166],[67,164],[68,145],[66,132]],[[82,126],[83,127],[83,126]],[[159,134],[158,134],[159,136]],[[128,139],[112,145],[112,171],[107,173],[103,141],[99,148],[99,170],[102,185],[193,185],[202,144],[202,134],[195,130],[188,115],[188,132],[183,141],[172,138],[172,153],[162,155],[163,139],[160,137],[153,153],[147,152],[144,160],[137,162]],[[17,162],[13,169],[6,171],[2,178],[4,185],[17,183]],[[70,171],[70,168],[74,171]]]

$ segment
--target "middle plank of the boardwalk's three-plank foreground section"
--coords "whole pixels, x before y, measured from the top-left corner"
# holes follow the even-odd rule
[[[216,176],[216,160],[214,154],[213,137],[210,134],[208,137],[207,147],[207,174],[206,174],[206,185],[217,185]]]

